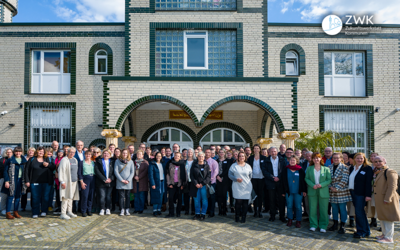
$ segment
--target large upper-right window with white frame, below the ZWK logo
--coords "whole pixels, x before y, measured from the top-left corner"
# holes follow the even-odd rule
[[[365,96],[364,52],[323,52],[325,95]]]

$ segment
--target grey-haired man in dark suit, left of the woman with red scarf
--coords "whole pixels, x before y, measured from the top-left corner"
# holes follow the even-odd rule
[[[276,214],[276,198],[278,199],[279,220],[287,222],[284,218],[285,198],[280,192],[280,179],[284,169],[284,160],[277,155],[278,150],[272,146],[269,149],[270,156],[266,157],[266,163],[261,166],[262,175],[265,177],[265,185],[269,194],[269,221],[275,220]]]

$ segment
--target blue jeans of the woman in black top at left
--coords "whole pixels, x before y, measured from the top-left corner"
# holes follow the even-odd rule
[[[51,185],[48,183],[30,183],[30,198],[32,200],[32,215],[48,211],[48,198]],[[40,204],[40,200],[42,201]]]

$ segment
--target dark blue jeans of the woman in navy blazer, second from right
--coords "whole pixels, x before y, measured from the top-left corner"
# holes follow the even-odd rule
[[[357,234],[361,236],[370,235],[368,219],[366,218],[364,210],[365,196],[355,194],[354,190],[350,190],[350,194],[355,209],[355,227],[357,228]]]

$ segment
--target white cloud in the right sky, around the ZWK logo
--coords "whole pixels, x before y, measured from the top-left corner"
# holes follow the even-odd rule
[[[295,3],[301,7],[294,7]],[[282,0],[281,12],[300,12],[304,21],[321,21],[326,14],[373,15],[373,23],[400,23],[399,0]]]

